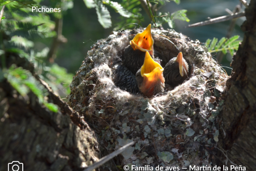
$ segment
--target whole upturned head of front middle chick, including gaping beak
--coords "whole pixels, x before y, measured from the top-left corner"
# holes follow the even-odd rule
[[[154,61],[150,53],[146,52],[144,64],[136,74],[138,88],[148,97],[162,93],[165,87],[162,66]]]

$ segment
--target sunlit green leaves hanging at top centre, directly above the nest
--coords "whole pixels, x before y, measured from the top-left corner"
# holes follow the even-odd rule
[[[111,16],[108,12],[108,9],[104,5],[108,5],[113,8],[116,12],[120,14],[120,21],[116,24],[114,30],[119,30],[120,28],[131,28],[134,27],[133,24],[141,24],[144,21],[144,17],[141,15],[141,3],[138,0],[123,0],[121,4],[118,2],[113,2],[110,0],[83,0],[87,8],[95,8],[98,15],[98,21],[104,28],[109,28],[112,26]],[[180,0],[170,0],[177,4],[180,3]],[[169,0],[147,0],[148,6],[149,3],[155,3],[157,6],[163,6]],[[189,19],[186,16],[187,10],[178,10],[172,14],[158,13],[158,15],[153,15],[151,8],[150,10],[151,18],[155,25],[161,26],[164,23],[168,23],[170,28],[175,27],[174,20],[183,20],[189,22]]]

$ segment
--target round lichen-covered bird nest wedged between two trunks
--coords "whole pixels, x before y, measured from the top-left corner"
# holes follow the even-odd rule
[[[163,56],[182,52],[192,68],[190,77],[151,98],[119,89],[112,81],[113,63],[142,31],[112,32],[98,40],[70,84],[67,103],[97,133],[103,155],[136,141],[105,165],[108,168],[211,166],[218,151],[226,72],[198,40],[174,30],[152,29],[154,49]]]

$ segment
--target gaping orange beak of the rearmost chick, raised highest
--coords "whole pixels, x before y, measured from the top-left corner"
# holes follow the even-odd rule
[[[141,50],[142,52],[150,52],[153,54],[153,44],[154,39],[151,35],[151,24],[141,33],[136,34],[136,36],[130,41],[131,48],[133,50]]]

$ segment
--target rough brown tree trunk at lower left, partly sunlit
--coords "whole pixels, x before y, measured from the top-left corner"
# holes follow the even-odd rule
[[[33,73],[33,66],[25,59],[7,56],[8,67],[16,63]],[[33,93],[23,97],[6,80],[0,82],[1,171],[8,170],[12,161],[22,162],[23,170],[81,170],[98,161],[93,130],[47,83],[41,83],[48,89],[48,101],[58,105],[59,112],[38,103]]]

